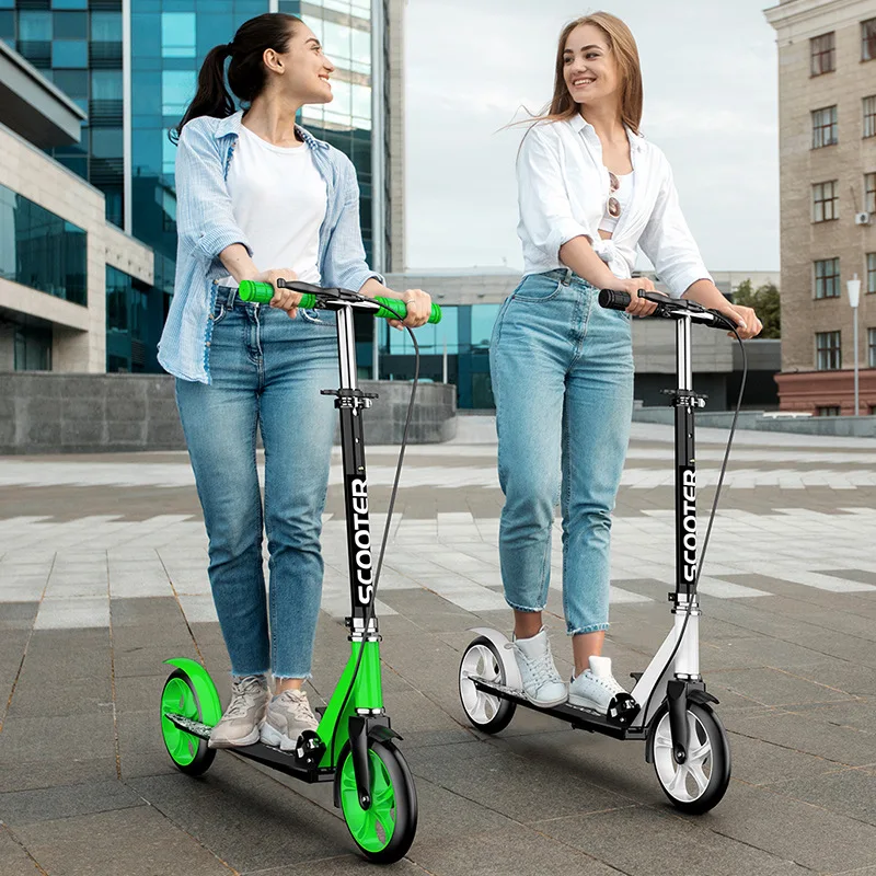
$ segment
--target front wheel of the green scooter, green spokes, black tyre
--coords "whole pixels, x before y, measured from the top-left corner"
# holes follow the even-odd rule
[[[350,837],[376,864],[393,864],[404,857],[417,830],[417,795],[402,752],[392,742],[372,740],[371,806],[362,809],[356,789],[349,745],[341,752],[337,779],[341,810]]]

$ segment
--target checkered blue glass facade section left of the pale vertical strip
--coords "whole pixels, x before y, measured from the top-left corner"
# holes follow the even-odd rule
[[[49,153],[100,188],[122,226],[122,0],[0,0],[0,39],[88,113],[81,141]]]

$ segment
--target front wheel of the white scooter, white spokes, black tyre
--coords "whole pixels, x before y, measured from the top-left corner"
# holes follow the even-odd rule
[[[706,705],[688,705],[688,759],[676,763],[669,710],[654,717],[654,769],[664,793],[676,808],[702,815],[721,803],[730,783],[730,746],[718,716]]]

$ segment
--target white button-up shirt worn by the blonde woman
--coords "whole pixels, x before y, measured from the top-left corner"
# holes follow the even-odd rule
[[[566,267],[560,247],[584,235],[620,279],[632,276],[637,245],[675,298],[696,280],[712,279],[679,207],[666,155],[643,137],[627,135],[633,197],[612,238],[603,241],[598,228],[609,199],[609,173],[593,126],[575,115],[528,131],[517,161],[525,275]]]

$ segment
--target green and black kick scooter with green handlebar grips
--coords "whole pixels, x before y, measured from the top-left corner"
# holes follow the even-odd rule
[[[322,711],[319,727],[302,734],[295,751],[280,751],[262,742],[226,750],[303,782],[333,782],[334,804],[341,808],[353,841],[368,860],[391,864],[403,857],[414,841],[417,797],[411,770],[395,745],[401,737],[390,726],[383,708],[380,636],[374,615],[380,564],[374,568],[371,556],[360,416],[376,396],[357,387],[353,316],[358,310],[384,319],[404,319],[406,308],[396,299],[366,298],[346,289],[284,280],[277,285],[301,292],[301,308],[332,310],[337,319],[341,388],[322,392],[335,396],[341,415],[350,569],[351,615],[346,619],[350,656]],[[239,295],[244,301],[267,303],[274,288],[270,284],[244,281]],[[440,319],[440,308],[433,304],[429,322]],[[182,772],[200,775],[216,757],[217,749],[207,742],[222,716],[219,694],[207,670],[195,660],[177,657],[165,662],[174,670],[161,694],[164,745]]]

